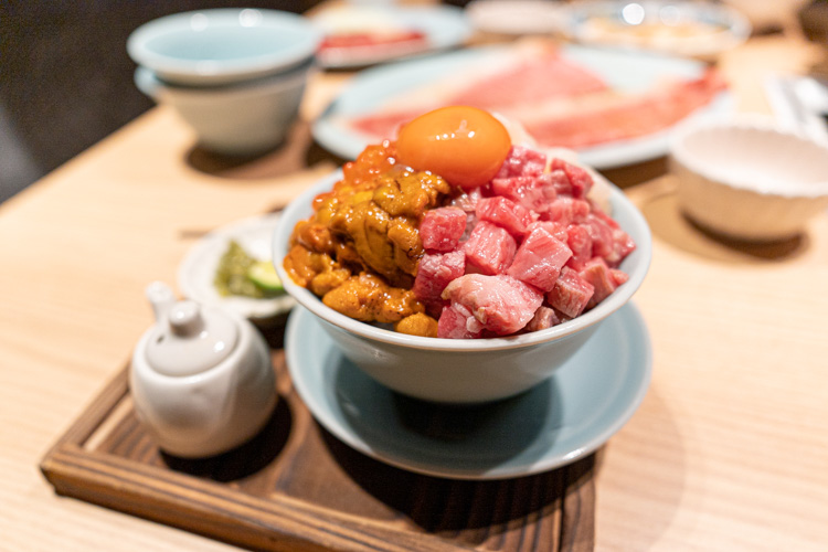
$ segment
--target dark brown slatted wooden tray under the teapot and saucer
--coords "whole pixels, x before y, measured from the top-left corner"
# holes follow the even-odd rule
[[[273,351],[278,406],[227,454],[160,452],[125,368],[45,455],[59,495],[254,550],[591,551],[595,456],[534,476],[461,481],[369,458],[319,426]]]

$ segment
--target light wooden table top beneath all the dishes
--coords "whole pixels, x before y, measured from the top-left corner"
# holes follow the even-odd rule
[[[739,109],[767,113],[764,75],[819,56],[767,36],[721,66]],[[347,78],[318,75],[304,118]],[[0,206],[0,550],[232,549],[57,497],[38,465],[123,368],[152,321],[144,287],[174,284],[188,236],[282,204],[336,166],[291,147],[302,132],[233,167],[156,108]],[[652,229],[635,302],[655,367],[598,457],[596,549],[828,550],[828,216],[776,247],[722,243],[680,215],[662,167],[609,172]]]

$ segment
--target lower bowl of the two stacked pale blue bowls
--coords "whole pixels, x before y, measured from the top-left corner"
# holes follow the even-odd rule
[[[287,73],[250,83],[190,87],[162,82],[138,67],[135,83],[159,104],[176,108],[195,130],[199,145],[224,155],[246,156],[279,145],[296,120],[312,61]]]

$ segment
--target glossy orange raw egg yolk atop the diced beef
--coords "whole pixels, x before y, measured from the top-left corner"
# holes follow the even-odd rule
[[[491,114],[452,106],[421,115],[396,138],[397,160],[464,189],[489,182],[511,148],[509,131]]]

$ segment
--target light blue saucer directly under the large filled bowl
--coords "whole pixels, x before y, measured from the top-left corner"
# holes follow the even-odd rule
[[[290,314],[285,343],[294,386],[335,436],[392,466],[456,479],[526,476],[592,453],[638,408],[652,370],[649,333],[633,304],[551,379],[480,406],[439,406],[390,391],[346,360],[302,307]]]

